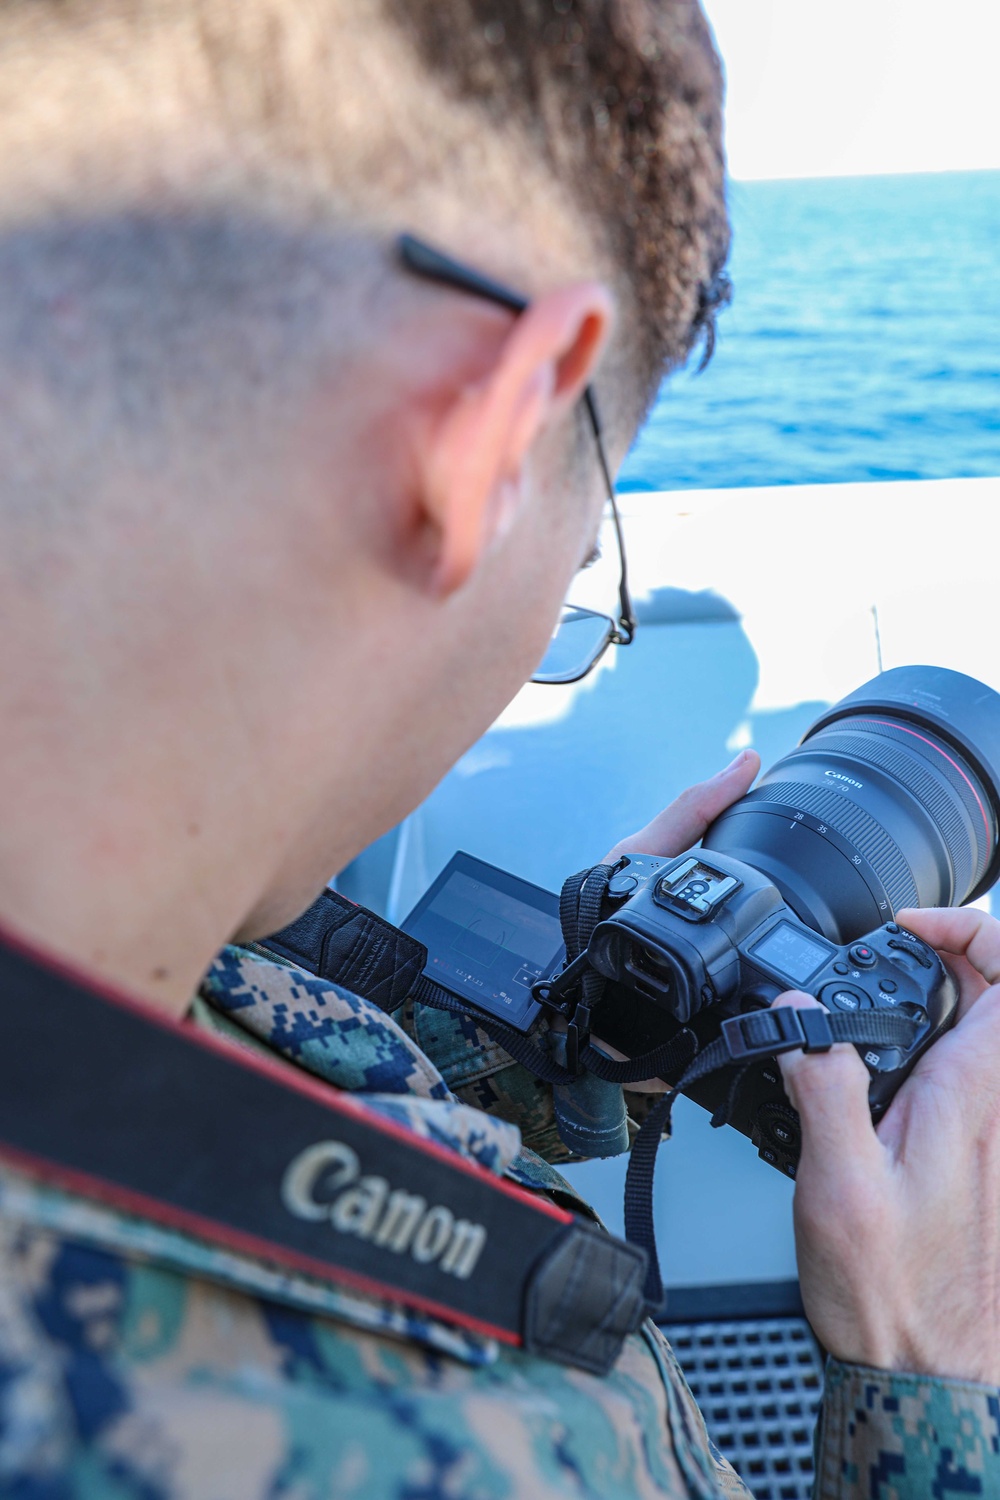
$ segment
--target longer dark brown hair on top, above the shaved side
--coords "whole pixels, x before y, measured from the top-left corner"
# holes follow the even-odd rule
[[[721,69],[697,0],[384,0],[441,87],[514,129],[631,302],[646,399],[729,300]]]

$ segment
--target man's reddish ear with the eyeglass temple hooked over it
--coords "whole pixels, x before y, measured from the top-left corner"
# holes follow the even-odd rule
[[[462,588],[510,525],[528,453],[582,396],[612,321],[610,294],[597,282],[547,292],[511,324],[486,372],[448,402],[421,465],[439,594]]]

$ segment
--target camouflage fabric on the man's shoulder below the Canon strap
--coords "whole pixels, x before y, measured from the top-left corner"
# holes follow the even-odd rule
[[[604,1380],[474,1366],[43,1230],[1,1248],[4,1496],[718,1494],[652,1332]]]

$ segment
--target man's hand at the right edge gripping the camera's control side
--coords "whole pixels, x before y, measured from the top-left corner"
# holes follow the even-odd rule
[[[802,1298],[841,1359],[999,1384],[1000,922],[978,910],[898,915],[957,976],[958,1023],[877,1130],[853,1047],[780,1059],[802,1120]]]

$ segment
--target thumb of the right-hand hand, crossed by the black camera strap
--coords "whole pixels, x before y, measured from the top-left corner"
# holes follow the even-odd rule
[[[778,1006],[795,1010],[825,1010],[811,994],[790,990],[780,994]],[[829,1052],[786,1052],[778,1058],[786,1094],[802,1120],[801,1166],[807,1173],[829,1172],[844,1162],[856,1170],[865,1158],[874,1158],[879,1137],[868,1108],[870,1076],[852,1042],[837,1042]]]

